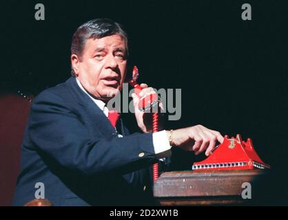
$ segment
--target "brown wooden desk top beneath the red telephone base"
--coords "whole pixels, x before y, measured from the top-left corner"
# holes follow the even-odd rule
[[[154,197],[162,206],[238,205],[242,184],[253,184],[263,170],[182,171],[163,173],[154,183]]]

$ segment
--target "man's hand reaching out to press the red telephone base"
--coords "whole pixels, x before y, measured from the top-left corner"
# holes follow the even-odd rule
[[[169,131],[167,131],[169,137]],[[173,131],[172,145],[185,151],[194,151],[196,155],[205,151],[209,155],[215,148],[216,142],[222,143],[224,137],[218,132],[202,125],[190,126]]]

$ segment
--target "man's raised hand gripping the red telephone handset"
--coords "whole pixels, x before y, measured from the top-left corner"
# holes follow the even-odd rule
[[[144,133],[152,132],[152,113],[144,113],[138,109],[138,103],[141,98],[149,96],[150,94],[156,94],[156,91],[152,87],[148,87],[147,84],[141,83],[140,85],[143,89],[139,93],[139,97],[136,94],[132,94],[135,117],[137,120],[138,127]],[[163,109],[163,104],[160,102],[159,107]],[[160,112],[160,111],[159,111]]]

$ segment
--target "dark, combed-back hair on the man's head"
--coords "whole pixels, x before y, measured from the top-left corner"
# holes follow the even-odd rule
[[[76,54],[81,59],[85,43],[88,39],[101,39],[114,34],[124,39],[126,52],[128,54],[127,34],[119,23],[111,19],[92,19],[77,28],[72,37],[71,54]],[[75,76],[73,68],[71,68],[71,74]]]

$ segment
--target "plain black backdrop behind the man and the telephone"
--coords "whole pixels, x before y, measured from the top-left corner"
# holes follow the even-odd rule
[[[72,34],[85,21],[122,23],[139,82],[182,89],[182,117],[165,128],[203,124],[251,137],[272,168],[287,167],[285,1],[1,1],[1,90],[36,96],[70,76]],[[45,21],[34,5],[45,5]],[[250,3],[252,21],[241,19]],[[129,118],[130,116],[125,116]],[[130,124],[134,118],[130,117]],[[180,155],[176,169],[192,165]],[[197,160],[203,157],[196,157]]]

